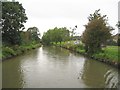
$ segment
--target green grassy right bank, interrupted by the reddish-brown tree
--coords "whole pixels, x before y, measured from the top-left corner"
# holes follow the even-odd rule
[[[69,42],[61,42],[61,43],[57,43],[57,44],[54,43],[54,45],[78,52],[83,55],[87,55],[85,53],[82,43],[75,44],[75,41],[69,41]],[[89,57],[99,60],[101,62],[105,62],[107,64],[119,66],[120,59],[118,59],[118,58],[119,58],[120,54],[118,54],[118,49],[120,49],[120,47],[118,47],[118,46],[107,46],[107,47],[103,48],[102,52],[95,53]]]

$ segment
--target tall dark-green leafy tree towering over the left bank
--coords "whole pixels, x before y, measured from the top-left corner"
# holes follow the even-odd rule
[[[21,43],[20,30],[27,20],[25,9],[19,2],[2,2],[2,41],[15,45]]]

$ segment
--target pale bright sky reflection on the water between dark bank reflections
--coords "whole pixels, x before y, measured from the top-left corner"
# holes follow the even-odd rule
[[[77,80],[84,57],[57,47],[39,48],[35,56],[37,58],[33,62],[30,59],[29,64],[26,61],[21,64],[25,88],[86,87]]]

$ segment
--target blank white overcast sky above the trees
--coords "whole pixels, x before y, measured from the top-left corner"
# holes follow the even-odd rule
[[[16,0],[22,3],[28,17],[26,29],[36,26],[41,34],[54,27],[74,28],[79,35],[85,30],[87,17],[101,9],[107,15],[109,24],[115,26],[118,21],[118,2],[120,0]],[[114,31],[115,33],[115,31]]]

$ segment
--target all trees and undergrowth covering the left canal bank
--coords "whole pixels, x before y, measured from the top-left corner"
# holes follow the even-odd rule
[[[2,2],[2,53],[0,58],[5,60],[24,52],[35,49],[40,44],[40,33],[37,27],[24,30],[27,21],[25,9],[19,2]]]

